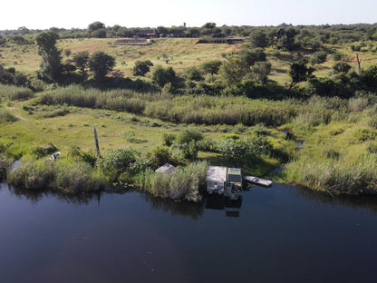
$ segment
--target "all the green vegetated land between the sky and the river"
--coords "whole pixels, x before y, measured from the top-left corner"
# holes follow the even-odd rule
[[[7,182],[199,201],[207,166],[222,165],[330,194],[377,194],[377,26],[238,32],[229,33],[245,44],[0,35],[0,168],[21,160]],[[73,50],[59,49],[68,42]],[[24,59],[14,65],[11,54]],[[41,57],[39,69],[17,71]],[[171,176],[154,172],[167,162]]]

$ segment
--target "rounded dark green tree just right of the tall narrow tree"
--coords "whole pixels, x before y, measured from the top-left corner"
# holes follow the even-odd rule
[[[104,79],[106,74],[112,71],[114,65],[114,57],[102,51],[93,53],[89,60],[89,69],[94,73],[95,80]]]

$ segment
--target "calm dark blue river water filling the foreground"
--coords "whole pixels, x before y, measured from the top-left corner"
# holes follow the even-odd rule
[[[377,199],[275,184],[242,202],[0,188],[0,282],[376,282]]]

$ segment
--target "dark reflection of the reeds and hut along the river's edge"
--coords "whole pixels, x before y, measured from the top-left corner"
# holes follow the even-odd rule
[[[184,216],[192,220],[198,220],[204,214],[205,210],[225,210],[224,215],[227,217],[238,217],[242,213],[243,201],[227,200],[222,197],[205,195],[203,199],[198,202],[191,202],[185,200],[169,200],[155,197],[148,192],[119,188],[118,190],[103,190],[95,192],[82,192],[67,194],[56,190],[21,190],[15,189],[5,183],[2,183],[2,190],[9,190],[10,194],[30,200],[33,204],[37,204],[44,198],[56,198],[61,202],[71,203],[74,205],[89,205],[92,202],[97,202],[101,205],[103,195],[125,195],[127,193],[140,193],[140,197],[150,204],[152,210],[163,210],[168,212],[171,216]],[[248,186],[244,188],[246,193],[251,193],[255,186]],[[306,188],[275,184],[272,188],[262,190],[274,190],[275,187],[283,187],[284,190],[290,190],[304,200],[310,200],[324,205],[339,205],[353,210],[363,209],[372,213],[377,213],[377,197],[375,196],[347,196],[347,195],[331,195],[323,191],[314,191]],[[261,189],[260,187],[256,187]]]

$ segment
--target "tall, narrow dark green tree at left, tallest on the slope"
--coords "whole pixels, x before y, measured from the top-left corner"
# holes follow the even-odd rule
[[[42,56],[38,76],[47,82],[58,82],[62,78],[62,56],[55,46],[58,38],[59,35],[53,31],[44,32],[35,37],[38,54]]]

